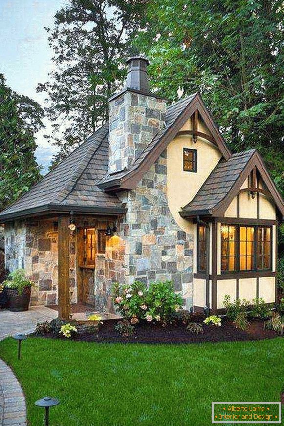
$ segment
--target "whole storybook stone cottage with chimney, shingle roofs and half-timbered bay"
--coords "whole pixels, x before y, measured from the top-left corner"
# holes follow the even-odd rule
[[[167,106],[128,60],[109,122],[0,213],[33,304],[112,311],[114,282],[171,280],[186,309],[276,294],[284,202],[256,150],[232,154],[199,93]]]

